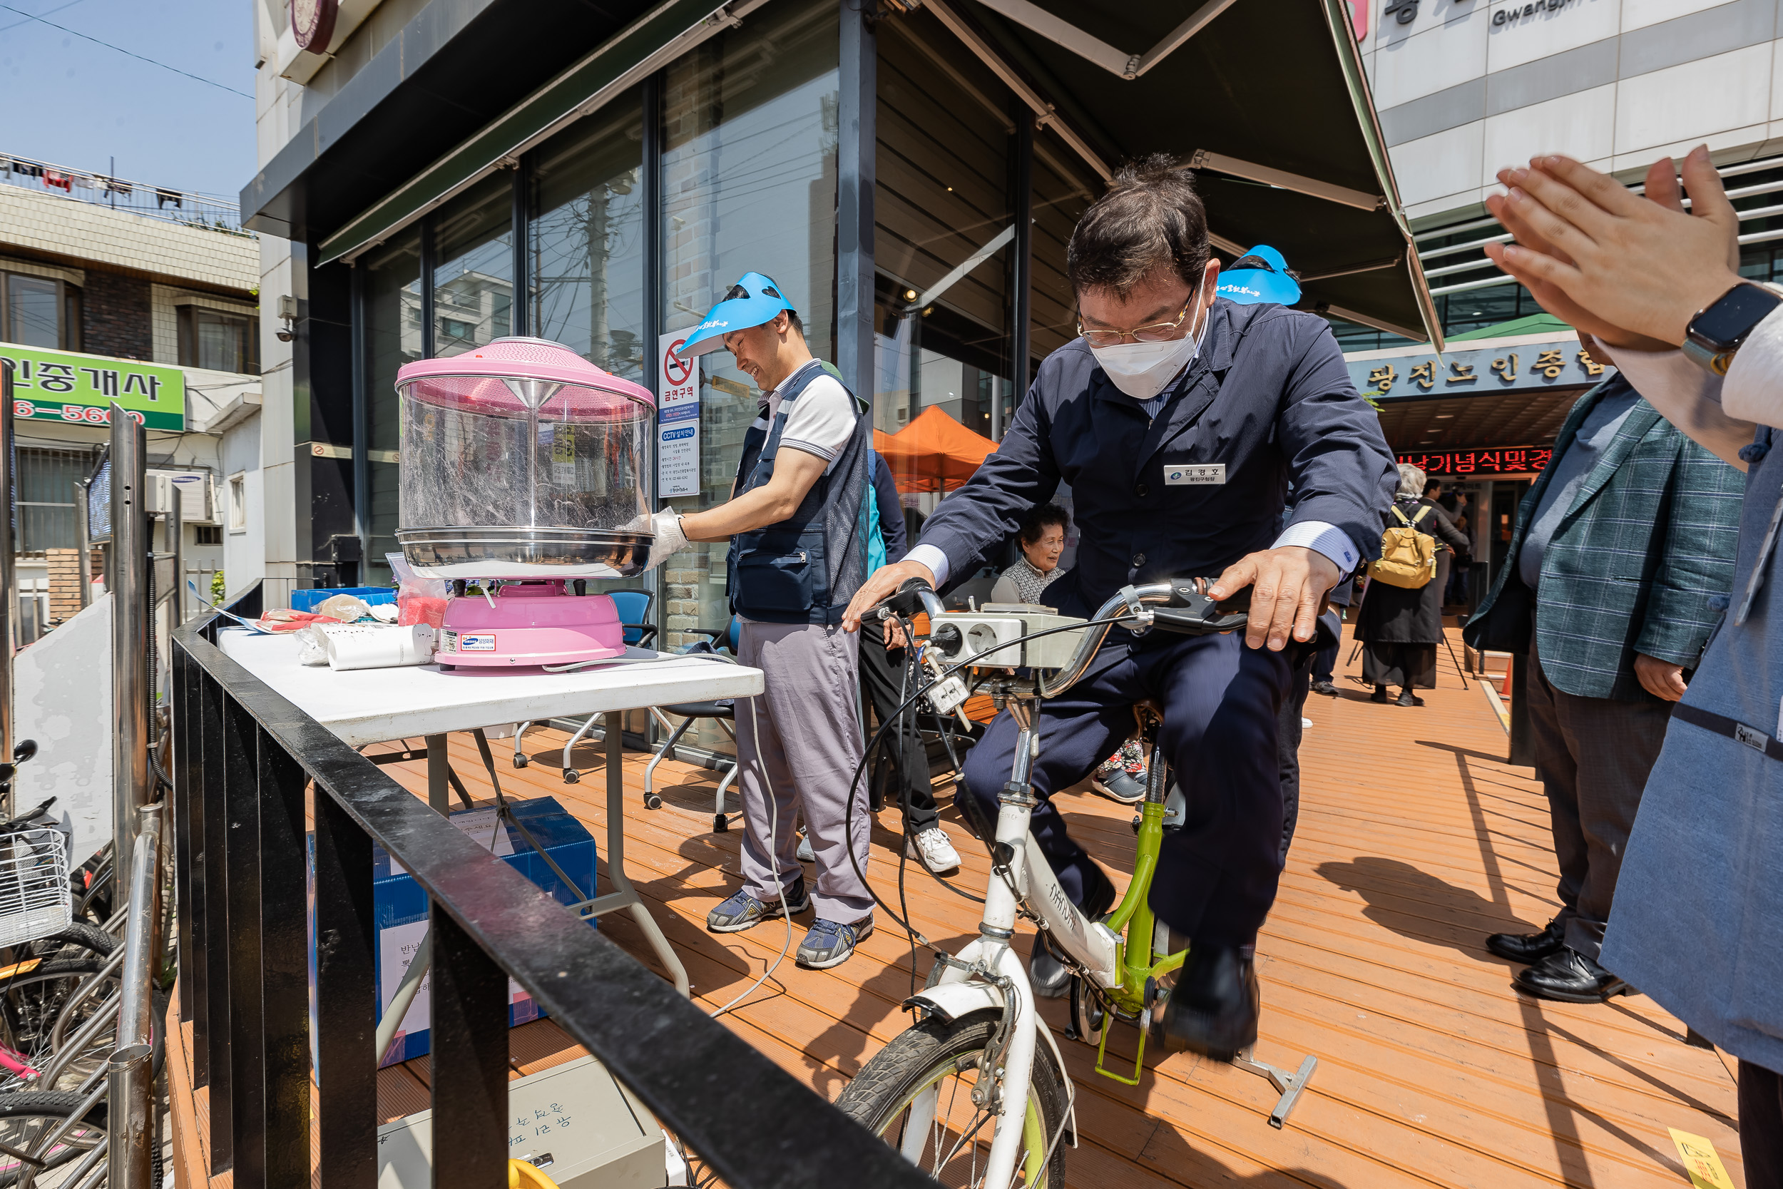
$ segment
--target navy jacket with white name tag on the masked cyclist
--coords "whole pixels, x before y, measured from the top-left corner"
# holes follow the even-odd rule
[[[997,453],[941,501],[922,544],[941,549],[952,574],[970,574],[1061,480],[1072,485],[1077,565],[1047,601],[1066,615],[1091,613],[1127,583],[1216,578],[1268,549],[1289,481],[1287,524],[1335,524],[1364,560],[1380,556],[1400,483],[1380,417],[1350,383],[1325,319],[1225,298],[1150,421],[1082,339],[1048,355]]]

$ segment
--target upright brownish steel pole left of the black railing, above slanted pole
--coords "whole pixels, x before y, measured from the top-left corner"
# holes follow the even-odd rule
[[[148,804],[148,435],[123,405],[112,401],[111,415],[112,838],[123,890],[136,857],[137,809]]]

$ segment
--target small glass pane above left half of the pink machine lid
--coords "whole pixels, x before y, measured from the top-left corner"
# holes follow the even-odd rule
[[[514,333],[514,175],[497,169],[433,216],[433,355]]]

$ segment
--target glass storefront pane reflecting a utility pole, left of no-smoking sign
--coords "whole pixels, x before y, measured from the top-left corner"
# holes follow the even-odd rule
[[[610,103],[533,155],[531,333],[644,376],[644,111]]]

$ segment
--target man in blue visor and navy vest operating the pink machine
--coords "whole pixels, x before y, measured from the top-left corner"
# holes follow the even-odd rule
[[[719,348],[765,399],[744,439],[731,499],[706,512],[658,512],[651,565],[690,540],[729,540],[738,660],[763,672],[763,692],[738,701],[736,759],[744,800],[744,886],[706,916],[713,932],[817,909],[799,964],[838,966],[872,932],[865,813],[847,818],[861,761],[856,708],[859,636],[842,611],[867,578],[867,406],[824,371],[779,285],[747,273],[688,332],[681,358]],[[749,708],[744,713],[744,706]],[[808,893],[793,856],[797,820],[817,856]]]

